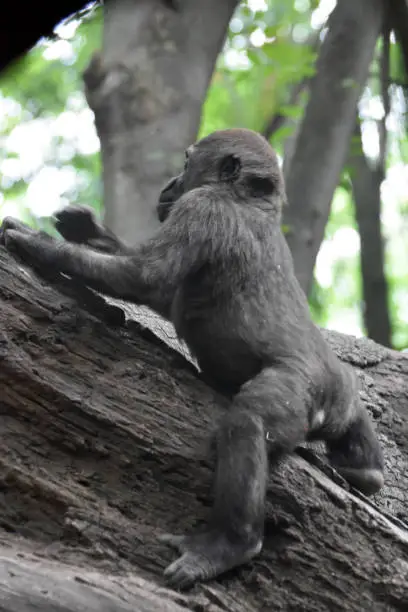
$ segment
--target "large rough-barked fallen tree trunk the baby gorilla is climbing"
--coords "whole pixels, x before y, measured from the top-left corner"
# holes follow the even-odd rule
[[[327,333],[376,420],[382,494],[368,502],[299,449],[271,474],[260,556],[181,595],[156,536],[208,516],[226,401],[121,303],[52,283],[0,249],[2,612],[407,609],[407,357]]]

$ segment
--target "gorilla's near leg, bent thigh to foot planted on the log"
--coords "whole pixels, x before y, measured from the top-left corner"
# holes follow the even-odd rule
[[[262,548],[268,454],[276,460],[304,441],[307,416],[292,374],[266,369],[241,388],[217,434],[215,502],[205,533],[165,535],[181,557],[166,570],[174,587],[208,580]]]

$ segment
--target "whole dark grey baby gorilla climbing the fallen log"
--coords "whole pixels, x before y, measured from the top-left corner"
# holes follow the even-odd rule
[[[295,278],[280,228],[284,202],[269,144],[232,129],[189,147],[184,171],[160,196],[159,231],[135,249],[78,207],[57,215],[71,242],[10,218],[0,232],[27,263],[172,321],[205,376],[231,397],[217,427],[208,528],[162,536],[181,553],[165,570],[175,587],[259,553],[268,459],[275,463],[306,439],[325,440],[334,467],[364,493],[383,485],[382,452],[354,374],[312,323]]]

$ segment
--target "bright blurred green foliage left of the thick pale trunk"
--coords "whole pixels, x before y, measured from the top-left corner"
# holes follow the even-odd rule
[[[0,216],[18,214],[48,230],[53,207],[71,202],[100,209],[99,143],[82,72],[101,34],[102,11],[90,6],[2,75]]]

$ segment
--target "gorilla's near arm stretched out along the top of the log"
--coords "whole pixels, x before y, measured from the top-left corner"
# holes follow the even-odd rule
[[[6,218],[0,243],[27,264],[68,274],[106,295],[144,304],[165,317],[175,291],[203,252],[205,203],[184,197],[159,232],[125,254],[107,254],[83,244],[56,241]]]

